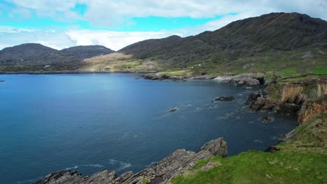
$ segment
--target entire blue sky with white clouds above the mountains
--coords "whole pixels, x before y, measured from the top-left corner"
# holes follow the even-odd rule
[[[0,49],[41,43],[54,49],[118,50],[150,38],[215,31],[272,12],[327,20],[327,0],[0,0]]]

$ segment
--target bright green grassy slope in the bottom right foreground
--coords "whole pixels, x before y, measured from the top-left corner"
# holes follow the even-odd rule
[[[318,114],[296,128],[293,141],[279,144],[275,153],[247,151],[219,162],[209,171],[201,170],[199,161],[192,172],[173,178],[182,183],[326,183],[327,113]]]

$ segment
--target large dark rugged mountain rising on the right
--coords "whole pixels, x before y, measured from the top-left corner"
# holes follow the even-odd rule
[[[327,47],[326,21],[299,13],[270,13],[231,22],[197,36],[144,40],[118,52],[138,59],[154,57],[178,68],[199,61],[233,61],[305,47]]]

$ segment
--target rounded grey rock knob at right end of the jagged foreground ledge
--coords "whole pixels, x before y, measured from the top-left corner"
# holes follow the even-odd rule
[[[219,155],[221,157],[226,157],[228,155],[227,144],[222,137],[208,141],[201,147],[201,150],[210,151],[210,153],[215,156]]]

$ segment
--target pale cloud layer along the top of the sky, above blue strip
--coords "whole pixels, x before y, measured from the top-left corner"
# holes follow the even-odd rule
[[[34,10],[39,16],[61,21],[86,20],[97,26],[115,26],[130,17],[215,17],[230,13],[261,15],[271,12],[298,12],[327,20],[326,0],[10,0],[17,8]],[[76,3],[87,5],[85,15],[73,11]],[[26,10],[25,10],[26,12]]]

